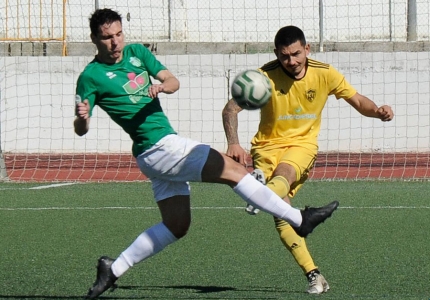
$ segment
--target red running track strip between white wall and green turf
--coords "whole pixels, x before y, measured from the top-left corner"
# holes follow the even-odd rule
[[[4,153],[4,157],[12,181],[147,180],[128,153]],[[319,153],[310,179],[429,179],[429,166],[430,153]]]

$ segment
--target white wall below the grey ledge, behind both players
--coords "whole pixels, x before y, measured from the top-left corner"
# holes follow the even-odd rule
[[[357,90],[377,104],[389,104],[393,122],[361,117],[343,100],[330,98],[324,111],[321,151],[404,152],[430,150],[430,66],[427,52],[317,53]],[[253,55],[171,55],[160,61],[178,76],[181,89],[162,95],[165,112],[181,135],[226,149],[221,110],[229,95],[227,78],[274,57]],[[92,57],[2,57],[0,121],[4,152],[129,152],[131,143],[97,109],[85,137],[73,132],[74,89]],[[249,141],[258,112],[240,114],[240,141]]]

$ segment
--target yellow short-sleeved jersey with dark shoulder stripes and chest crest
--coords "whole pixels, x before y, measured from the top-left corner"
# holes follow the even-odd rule
[[[308,58],[306,74],[295,79],[278,60],[260,68],[272,85],[272,98],[261,108],[253,147],[276,144],[317,145],[321,113],[329,95],[349,99],[356,90],[333,66]]]

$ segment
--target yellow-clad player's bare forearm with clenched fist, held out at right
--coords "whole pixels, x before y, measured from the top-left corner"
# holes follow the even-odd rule
[[[359,93],[355,93],[349,99],[345,99],[360,114],[366,117],[378,118],[383,122],[391,121],[394,117],[393,110],[388,105],[378,107],[372,100]]]

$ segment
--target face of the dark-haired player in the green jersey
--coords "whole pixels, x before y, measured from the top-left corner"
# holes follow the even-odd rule
[[[109,64],[121,61],[125,45],[121,22],[116,21],[100,26],[97,36],[91,35],[91,38],[97,46],[99,60]]]

